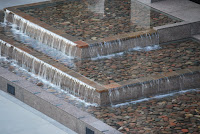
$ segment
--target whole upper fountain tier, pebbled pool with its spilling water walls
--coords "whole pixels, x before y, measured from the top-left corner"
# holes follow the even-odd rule
[[[4,22],[68,56],[84,59],[158,45],[152,28],[180,20],[131,0],[77,0],[7,8]]]

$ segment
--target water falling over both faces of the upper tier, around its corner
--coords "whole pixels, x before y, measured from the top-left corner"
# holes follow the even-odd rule
[[[86,58],[101,58],[105,56],[111,56],[119,52],[124,51],[150,51],[159,48],[159,35],[157,33],[147,33],[140,37],[125,40],[115,40],[111,42],[103,42],[90,45],[87,49],[77,48],[74,42],[57,35],[45,28],[36,25],[29,20],[26,20],[9,10],[5,10],[4,24],[7,22],[12,23],[13,31],[19,30],[21,33],[46,44],[62,53],[71,57],[82,57],[80,54],[86,56]],[[79,49],[79,51],[77,51]],[[85,58],[85,57],[83,57]]]

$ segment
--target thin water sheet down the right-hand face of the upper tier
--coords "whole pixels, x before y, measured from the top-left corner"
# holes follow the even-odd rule
[[[123,54],[125,51],[151,51],[159,49],[158,33],[145,34],[128,40],[115,40],[89,46],[89,57],[93,59],[108,58]],[[96,57],[96,58],[95,58]]]

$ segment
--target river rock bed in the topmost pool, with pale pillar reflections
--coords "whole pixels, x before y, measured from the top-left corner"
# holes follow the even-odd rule
[[[83,41],[180,22],[131,0],[63,1],[19,9]]]

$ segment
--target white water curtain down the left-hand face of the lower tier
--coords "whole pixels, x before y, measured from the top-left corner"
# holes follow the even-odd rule
[[[0,40],[1,55],[9,57],[17,61],[18,65],[28,70],[29,72],[35,73],[37,76],[53,83],[67,92],[79,96],[81,98],[91,98],[97,96],[91,96],[95,88],[90,85],[72,77],[61,70],[43,62],[40,59]],[[86,100],[87,101],[87,100]]]

